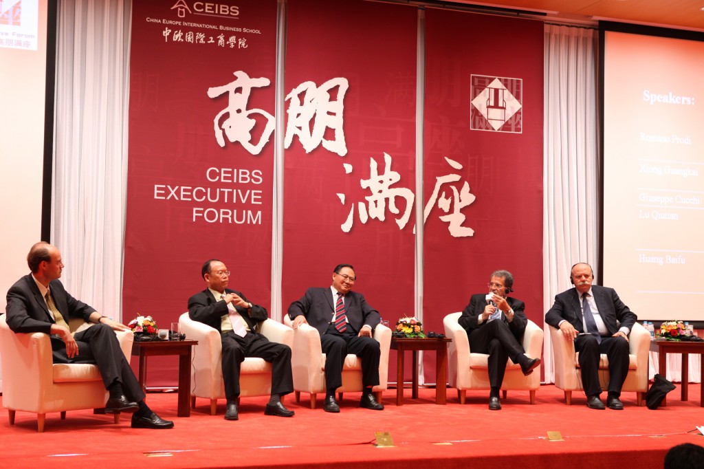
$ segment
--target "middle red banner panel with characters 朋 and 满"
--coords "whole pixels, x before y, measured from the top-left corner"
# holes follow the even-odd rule
[[[393,326],[414,315],[417,10],[288,4],[284,311],[338,263]]]

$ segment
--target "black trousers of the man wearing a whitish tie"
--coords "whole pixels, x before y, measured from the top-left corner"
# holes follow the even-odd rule
[[[271,394],[289,394],[294,390],[291,374],[291,347],[269,342],[262,334],[247,332],[239,337],[232,331],[222,333],[222,380],[228,400],[239,396],[239,370],[244,358],[264,358],[271,363]]]

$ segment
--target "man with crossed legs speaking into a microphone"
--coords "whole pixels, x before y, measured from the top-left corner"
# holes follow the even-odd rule
[[[467,331],[472,352],[489,354],[489,410],[498,411],[498,391],[508,358],[521,365],[524,375],[533,373],[540,358],[528,358],[520,342],[528,320],[523,301],[507,296],[513,291],[513,275],[496,270],[487,286],[489,294],[472,295],[459,323]]]

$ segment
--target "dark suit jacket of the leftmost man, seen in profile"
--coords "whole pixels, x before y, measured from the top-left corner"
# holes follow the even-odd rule
[[[91,313],[95,311],[68,294],[63,284],[58,280],[49,283],[51,298],[56,308],[68,323],[70,318],[82,318],[89,322]],[[51,325],[56,321],[51,318],[49,308],[39,287],[31,274],[20,278],[7,292],[7,325],[14,332],[44,332],[51,333]]]

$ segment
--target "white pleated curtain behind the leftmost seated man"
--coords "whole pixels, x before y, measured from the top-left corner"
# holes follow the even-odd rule
[[[130,0],[58,2],[51,242],[63,282],[121,320]]]

